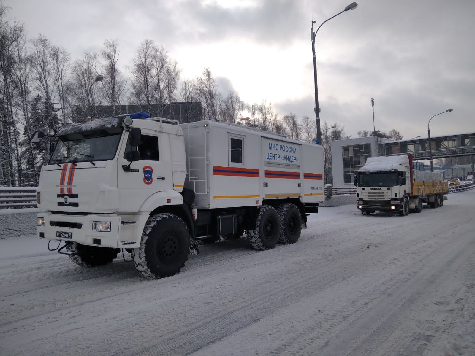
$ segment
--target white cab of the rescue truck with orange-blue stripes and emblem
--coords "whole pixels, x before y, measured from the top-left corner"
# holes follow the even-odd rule
[[[135,114],[62,127],[41,169],[38,236],[139,247],[154,209],[182,205],[185,162],[178,122]]]

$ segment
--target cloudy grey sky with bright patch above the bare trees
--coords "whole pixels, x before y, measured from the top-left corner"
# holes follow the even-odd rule
[[[74,59],[116,39],[123,68],[152,39],[196,78],[209,67],[222,93],[266,100],[279,116],[315,117],[314,29],[351,0],[3,0]],[[396,129],[405,139],[475,132],[474,0],[357,0],[316,35],[321,121],[348,136]]]

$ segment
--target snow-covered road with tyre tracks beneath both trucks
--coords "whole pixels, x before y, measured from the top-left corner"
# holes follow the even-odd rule
[[[158,281],[1,239],[0,355],[475,355],[474,212],[475,189],[407,217],[325,207],[297,244],[207,245]]]

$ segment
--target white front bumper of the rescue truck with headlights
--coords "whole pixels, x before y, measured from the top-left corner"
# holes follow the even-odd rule
[[[44,226],[37,226],[40,238],[113,248],[139,247],[143,226],[148,218],[148,215],[61,215],[48,212],[39,212],[37,216],[45,220]],[[93,221],[111,222],[110,231],[93,230]]]

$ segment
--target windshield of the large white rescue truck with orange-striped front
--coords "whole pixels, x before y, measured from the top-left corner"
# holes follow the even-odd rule
[[[60,136],[48,164],[113,159],[122,128],[74,132]]]

